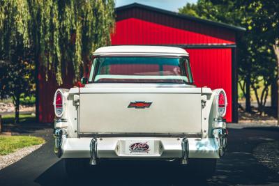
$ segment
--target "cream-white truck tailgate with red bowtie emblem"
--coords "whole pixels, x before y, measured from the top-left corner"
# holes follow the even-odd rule
[[[201,117],[201,88],[80,88],[80,133],[200,133]]]

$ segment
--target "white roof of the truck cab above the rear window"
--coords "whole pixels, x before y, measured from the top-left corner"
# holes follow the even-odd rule
[[[189,56],[185,49],[179,47],[163,47],[150,45],[117,45],[100,47],[93,55],[160,55],[160,56]]]

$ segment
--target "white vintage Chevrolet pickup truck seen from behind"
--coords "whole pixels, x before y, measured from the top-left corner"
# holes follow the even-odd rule
[[[211,176],[225,153],[225,91],[195,86],[184,49],[101,47],[82,84],[54,95],[54,152],[67,173],[132,159],[192,164]]]

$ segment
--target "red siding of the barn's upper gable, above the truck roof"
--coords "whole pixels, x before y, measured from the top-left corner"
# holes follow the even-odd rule
[[[197,26],[202,30],[200,24]],[[207,32],[213,33],[210,30]],[[232,40],[216,38],[212,35],[129,18],[116,22],[112,45],[235,44]]]

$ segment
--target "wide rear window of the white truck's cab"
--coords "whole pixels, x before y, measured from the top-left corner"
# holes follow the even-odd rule
[[[103,56],[93,60],[89,82],[192,84],[186,58]]]

